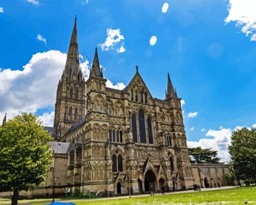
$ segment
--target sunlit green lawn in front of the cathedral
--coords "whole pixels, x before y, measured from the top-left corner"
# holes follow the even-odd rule
[[[22,200],[20,202],[35,202],[31,203],[33,205],[48,204],[46,201],[36,200]],[[155,196],[142,196],[142,197],[132,197],[132,198],[121,198],[121,199],[99,199],[99,200],[79,200],[74,199],[76,205],[83,204],[94,204],[94,205],[128,205],[128,204],[155,204],[155,205],[236,205],[243,204],[248,201],[248,204],[256,204],[256,186],[250,187],[237,187],[231,189],[221,189],[212,191],[201,191],[201,192],[187,192],[187,193],[176,193],[176,194],[166,194],[166,195],[155,195]],[[0,200],[0,204],[3,201]]]

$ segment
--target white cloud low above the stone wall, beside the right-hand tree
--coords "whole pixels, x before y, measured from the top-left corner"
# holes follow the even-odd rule
[[[256,125],[256,124],[254,124]],[[253,126],[253,125],[252,125]],[[240,129],[241,126],[236,126],[234,130]],[[202,138],[199,141],[187,141],[188,147],[200,146],[203,149],[212,148],[218,151],[218,155],[221,161],[229,161],[230,155],[228,153],[228,145],[231,142],[231,134],[234,131],[230,128],[221,128],[219,130],[208,130],[205,134],[207,137],[212,138]]]

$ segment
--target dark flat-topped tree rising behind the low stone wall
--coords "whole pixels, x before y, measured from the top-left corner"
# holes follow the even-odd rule
[[[191,163],[208,163],[218,164],[220,158],[217,157],[218,152],[210,149],[202,149],[201,147],[188,148],[189,158]]]

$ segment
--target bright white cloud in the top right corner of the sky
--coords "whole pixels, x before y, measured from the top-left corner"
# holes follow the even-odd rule
[[[235,22],[236,27],[241,28],[251,41],[256,41],[256,1],[253,0],[229,0],[228,17],[226,23]]]

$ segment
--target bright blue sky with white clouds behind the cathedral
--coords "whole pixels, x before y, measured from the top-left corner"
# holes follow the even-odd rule
[[[153,97],[164,99],[169,72],[185,101],[189,146],[213,147],[227,160],[231,131],[256,126],[256,17],[249,2],[0,1],[0,120],[6,112],[10,118],[33,111],[52,123],[77,15],[85,73],[97,47],[110,87],[127,85],[138,65]],[[117,42],[102,51],[100,44],[111,31]],[[153,46],[152,36],[157,37]]]

